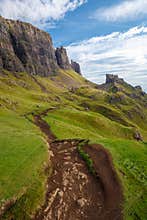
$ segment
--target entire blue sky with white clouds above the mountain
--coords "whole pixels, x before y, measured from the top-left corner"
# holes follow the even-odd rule
[[[87,79],[118,74],[147,91],[147,0],[0,0],[0,15],[49,32]]]

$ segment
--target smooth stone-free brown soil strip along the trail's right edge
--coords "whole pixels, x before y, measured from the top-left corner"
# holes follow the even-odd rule
[[[122,187],[115,172],[110,153],[98,144],[86,145],[84,146],[84,151],[92,158],[94,169],[103,186],[105,198],[103,219],[122,219]]]

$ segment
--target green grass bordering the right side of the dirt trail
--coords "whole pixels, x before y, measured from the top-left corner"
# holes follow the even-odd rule
[[[105,132],[107,129],[98,119],[99,114],[82,112],[74,109],[56,110],[50,112],[48,116],[45,117],[45,120],[50,124],[52,131],[59,139],[89,139],[91,143],[102,144],[111,152],[114,165],[124,188],[125,219],[146,220],[146,144],[131,140],[127,135],[125,136],[126,127],[123,127],[123,130],[121,130],[117,125],[116,131],[115,123],[107,121],[106,123],[109,124],[111,132]],[[123,132],[124,134],[122,135]],[[128,133],[127,129],[126,133]],[[91,167],[90,158],[83,154],[81,148],[80,153]]]

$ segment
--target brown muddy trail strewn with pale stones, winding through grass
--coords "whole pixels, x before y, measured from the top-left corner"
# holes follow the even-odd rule
[[[35,220],[122,220],[123,194],[109,153],[100,145],[85,144],[97,176],[92,175],[77,146],[82,140],[56,140],[49,125],[35,116],[51,152],[52,174],[46,201]]]

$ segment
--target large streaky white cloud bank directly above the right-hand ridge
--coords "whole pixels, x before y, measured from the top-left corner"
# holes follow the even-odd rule
[[[147,27],[134,27],[71,44],[67,50],[88,79],[102,83],[106,73],[115,73],[147,91],[146,44]]]

